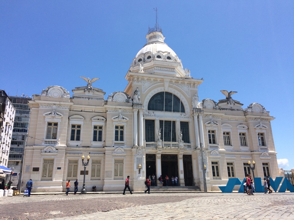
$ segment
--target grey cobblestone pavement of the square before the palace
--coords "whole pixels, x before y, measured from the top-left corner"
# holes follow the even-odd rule
[[[134,193],[0,198],[0,219],[294,219],[294,193]]]

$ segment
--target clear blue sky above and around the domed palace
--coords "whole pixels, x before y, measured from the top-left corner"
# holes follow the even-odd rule
[[[204,79],[200,100],[232,90],[244,108],[263,105],[275,117],[279,167],[294,168],[294,1],[0,1],[1,89],[71,92],[85,86],[83,76],[100,78],[93,86],[105,99],[123,91],[154,7],[165,42]]]

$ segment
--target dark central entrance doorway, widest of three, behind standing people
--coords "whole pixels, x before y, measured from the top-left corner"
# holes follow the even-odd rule
[[[177,154],[161,154],[161,174],[162,179],[167,175],[169,177],[169,186],[172,186],[172,176],[179,178]],[[180,179],[178,179],[178,185]],[[163,180],[163,186],[166,186],[166,181]]]

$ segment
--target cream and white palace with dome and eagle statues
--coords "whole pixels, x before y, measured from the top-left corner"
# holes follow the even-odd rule
[[[121,191],[127,176],[131,190],[143,191],[153,173],[158,186],[158,177],[168,175],[180,186],[219,190],[229,178],[242,181],[252,172],[249,161],[256,162],[255,177],[279,176],[269,112],[258,103],[243,108],[232,91],[222,90],[226,97],[220,94],[218,103],[199,101],[203,80],[183,69],[161,29],[149,29],[146,39],[124,92],[105,100],[92,85],[98,78],[82,77],[87,85],[73,89],[72,97],[61,86],[33,95],[22,177],[33,180],[32,192],[65,191],[68,179],[78,179],[81,189],[82,155],[90,156],[88,191],[94,185]]]

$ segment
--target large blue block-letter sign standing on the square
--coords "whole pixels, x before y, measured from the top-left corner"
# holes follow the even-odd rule
[[[283,179],[283,177],[276,177],[275,181],[274,181],[271,177],[269,177],[270,186],[273,188],[273,190],[275,192],[277,192],[279,185],[282,182],[282,179]],[[257,193],[264,193],[264,186],[261,182],[261,178],[255,177],[254,180],[255,180],[255,185],[254,185],[255,191]],[[241,182],[239,178],[231,178],[227,182],[226,186],[219,186],[219,188],[223,193],[232,193],[235,185],[241,185],[238,193],[244,193],[244,189],[243,189],[244,182],[245,182],[245,178],[243,179],[243,182]],[[289,180],[287,178],[284,178],[284,181],[283,181],[278,192],[284,193],[284,192],[286,192],[286,189],[288,189],[291,193],[294,193],[293,185],[289,182]]]

